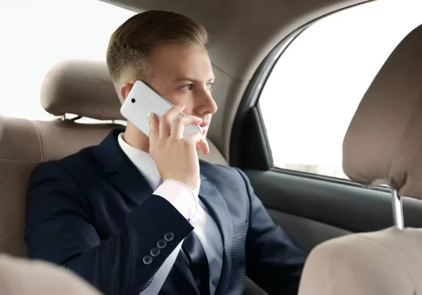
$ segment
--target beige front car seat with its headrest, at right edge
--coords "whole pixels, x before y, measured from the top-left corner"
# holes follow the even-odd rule
[[[422,229],[404,228],[400,196],[422,199],[422,25],[392,52],[359,104],[343,168],[364,186],[392,188],[395,227],[316,246],[299,294],[421,295]]]

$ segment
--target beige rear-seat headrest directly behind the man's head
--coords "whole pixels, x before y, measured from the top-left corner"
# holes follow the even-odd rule
[[[41,106],[53,115],[124,120],[104,61],[71,60],[54,65],[41,87]]]

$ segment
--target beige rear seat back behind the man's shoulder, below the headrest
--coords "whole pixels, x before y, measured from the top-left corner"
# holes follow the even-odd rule
[[[101,142],[117,125],[0,117],[0,252],[26,256],[27,182],[35,166]]]

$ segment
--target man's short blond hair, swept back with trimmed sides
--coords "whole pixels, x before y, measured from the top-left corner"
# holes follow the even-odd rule
[[[185,15],[146,11],[132,16],[113,32],[107,49],[108,71],[117,92],[122,77],[148,80],[148,55],[155,46],[177,43],[206,47],[207,39],[205,27]]]

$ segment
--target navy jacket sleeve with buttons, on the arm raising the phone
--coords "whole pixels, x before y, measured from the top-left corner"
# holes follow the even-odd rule
[[[60,163],[39,165],[27,191],[25,241],[30,258],[70,268],[105,294],[139,295],[193,230],[168,201],[152,194],[127,214],[117,234],[101,240],[84,192]],[[151,249],[166,233],[160,255]],[[151,261],[152,258],[152,261]]]

